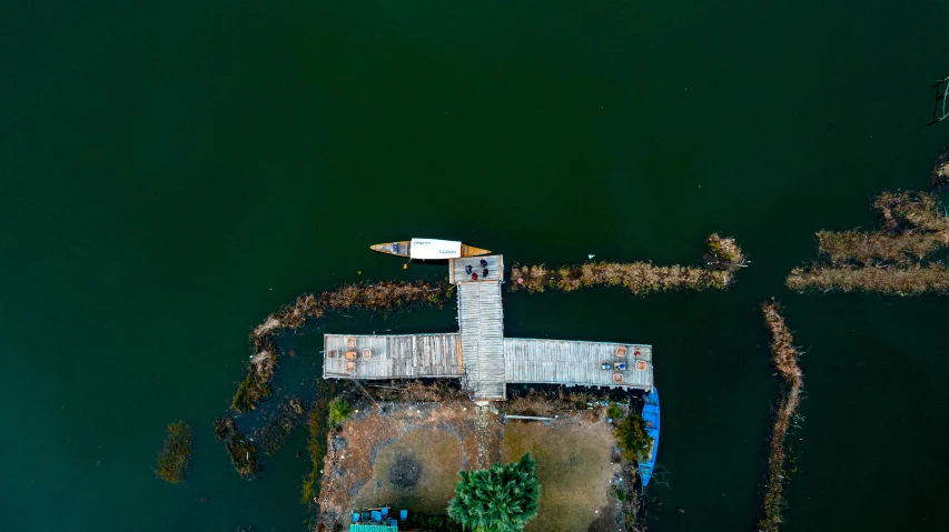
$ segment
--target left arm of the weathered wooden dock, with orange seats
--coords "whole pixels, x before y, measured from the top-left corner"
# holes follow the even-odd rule
[[[349,339],[354,345],[349,345]],[[458,333],[324,334],[323,377],[330,379],[461,378]],[[369,350],[369,358],[365,350]],[[355,352],[356,360],[346,353]],[[350,355],[352,357],[352,355]],[[346,363],[353,362],[353,371]]]

